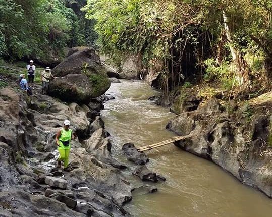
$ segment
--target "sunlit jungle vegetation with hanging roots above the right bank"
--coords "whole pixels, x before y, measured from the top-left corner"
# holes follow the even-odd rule
[[[88,0],[98,44],[116,62],[133,53],[164,89],[184,82],[221,82],[229,89],[269,90],[270,0]]]

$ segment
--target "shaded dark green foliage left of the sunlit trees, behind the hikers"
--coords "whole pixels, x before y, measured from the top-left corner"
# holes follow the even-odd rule
[[[60,55],[82,43],[80,22],[63,0],[0,0],[0,56]]]

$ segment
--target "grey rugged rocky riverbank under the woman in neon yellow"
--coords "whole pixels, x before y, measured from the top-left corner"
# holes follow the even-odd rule
[[[9,69],[0,89],[1,216],[130,216],[122,207],[134,186],[111,157],[109,134],[99,117],[103,98],[87,105],[63,103],[18,88]],[[72,142],[69,170],[56,170],[57,130],[69,119],[78,139]]]

